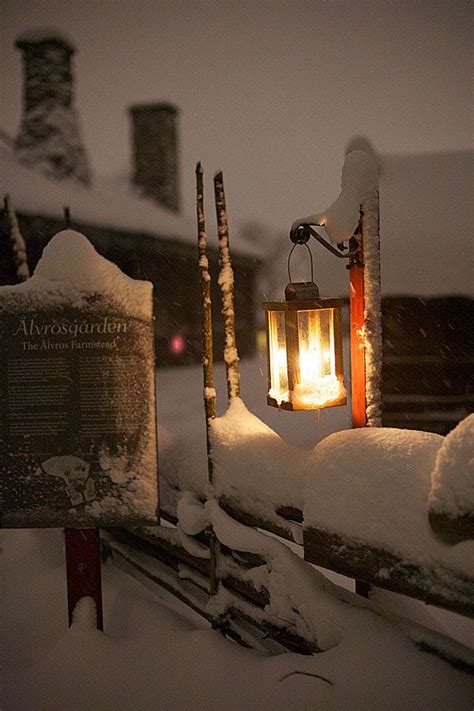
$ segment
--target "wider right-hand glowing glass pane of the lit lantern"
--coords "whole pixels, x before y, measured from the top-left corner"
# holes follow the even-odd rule
[[[298,382],[292,402],[300,407],[324,407],[344,397],[336,370],[334,309],[298,311]]]

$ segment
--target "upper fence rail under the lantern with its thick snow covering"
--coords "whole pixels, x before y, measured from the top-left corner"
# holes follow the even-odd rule
[[[223,511],[293,544],[301,545],[304,537],[309,562],[474,616],[472,543],[446,545],[429,525],[431,474],[440,444],[446,450],[444,438],[350,430],[331,435],[308,455],[300,452],[296,467],[295,448],[263,423],[260,436],[254,431],[248,441],[256,420],[237,400],[214,423],[216,491]],[[302,471],[304,509],[301,503],[298,507]],[[186,510],[183,497],[190,494],[171,487],[165,491],[162,515],[178,523]],[[182,526],[186,529],[186,522]],[[192,530],[189,525],[187,530]]]

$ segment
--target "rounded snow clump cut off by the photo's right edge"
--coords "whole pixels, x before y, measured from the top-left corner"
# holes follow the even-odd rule
[[[455,518],[474,514],[474,414],[444,439],[432,474],[430,508]]]

